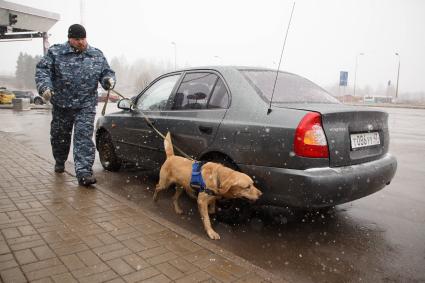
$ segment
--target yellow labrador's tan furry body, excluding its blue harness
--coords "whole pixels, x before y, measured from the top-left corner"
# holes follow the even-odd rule
[[[261,191],[254,186],[252,179],[241,172],[227,168],[221,164],[207,162],[200,171],[207,190],[201,190],[196,197],[196,192],[191,186],[192,165],[194,161],[174,155],[170,133],[164,140],[167,159],[161,167],[159,182],[153,195],[154,201],[158,200],[158,193],[170,185],[176,185],[176,193],[173,196],[174,210],[177,214],[183,213],[179,205],[179,197],[185,190],[190,196],[197,198],[199,213],[204,223],[208,236],[217,240],[220,235],[211,227],[209,213],[215,212],[215,202],[220,198],[245,198],[257,200]]]

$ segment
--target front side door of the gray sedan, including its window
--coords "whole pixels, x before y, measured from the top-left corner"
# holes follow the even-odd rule
[[[127,118],[125,129],[122,129],[126,134],[120,151],[138,167],[154,169],[165,159],[160,151],[163,140],[149,126],[146,118],[155,127],[163,128],[161,120],[166,115],[163,110],[170,104],[171,94],[180,76],[180,73],[173,73],[160,77],[135,99],[133,111]]]

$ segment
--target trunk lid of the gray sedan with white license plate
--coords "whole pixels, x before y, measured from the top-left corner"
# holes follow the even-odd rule
[[[376,160],[388,152],[386,112],[342,104],[296,104],[289,108],[321,114],[331,167]]]

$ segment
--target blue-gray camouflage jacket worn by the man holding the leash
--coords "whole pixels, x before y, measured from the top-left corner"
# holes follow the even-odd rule
[[[51,103],[62,108],[96,106],[98,82],[106,88],[107,78],[115,80],[115,72],[102,51],[88,45],[78,52],[68,42],[50,47],[35,72],[38,92],[53,90]]]

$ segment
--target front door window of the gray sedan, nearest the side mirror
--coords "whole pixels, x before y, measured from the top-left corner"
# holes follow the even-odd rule
[[[137,109],[149,111],[164,110],[179,78],[180,74],[159,79],[139,97],[136,103]]]

